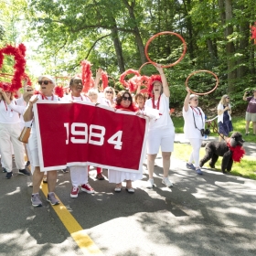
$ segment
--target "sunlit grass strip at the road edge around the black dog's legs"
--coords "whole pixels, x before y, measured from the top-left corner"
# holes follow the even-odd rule
[[[190,144],[175,144],[175,149],[172,154],[173,157],[181,159],[183,161],[188,161],[188,157],[192,152],[192,147]],[[205,148],[200,149],[200,158],[205,155]],[[215,167],[216,170],[221,172],[221,160],[222,157],[219,157]],[[208,163],[204,167],[209,167]],[[240,163],[234,162],[232,166],[231,175],[242,176],[256,180],[256,161],[252,156],[244,156]]]

